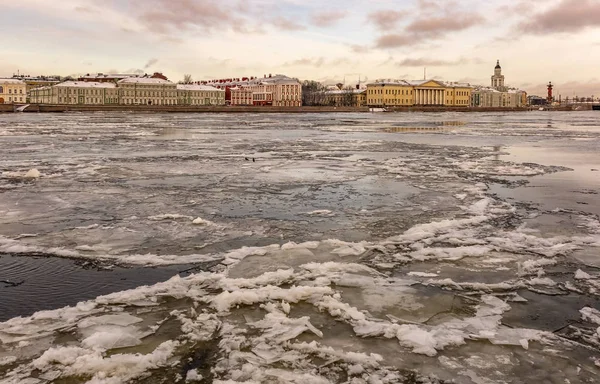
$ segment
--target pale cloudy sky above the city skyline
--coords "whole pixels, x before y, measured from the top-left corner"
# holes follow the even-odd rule
[[[427,78],[600,96],[600,0],[0,0],[0,76]]]

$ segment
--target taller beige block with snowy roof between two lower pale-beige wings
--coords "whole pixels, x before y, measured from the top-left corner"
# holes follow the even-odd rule
[[[106,83],[104,83],[106,84]],[[121,104],[177,105],[177,85],[152,77],[128,77],[117,82]]]

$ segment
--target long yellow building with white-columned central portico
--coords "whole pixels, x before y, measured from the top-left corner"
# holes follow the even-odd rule
[[[367,105],[468,107],[472,90],[469,84],[437,80],[383,80],[367,84]]]

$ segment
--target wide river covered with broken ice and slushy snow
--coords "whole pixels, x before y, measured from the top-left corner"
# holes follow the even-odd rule
[[[1,384],[600,382],[598,112],[7,114],[0,148]]]

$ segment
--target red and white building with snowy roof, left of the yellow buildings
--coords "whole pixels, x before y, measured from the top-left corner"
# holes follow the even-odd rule
[[[274,107],[299,107],[302,105],[302,85],[297,79],[285,75],[212,80],[202,82],[202,84],[225,90],[226,103],[231,105]],[[248,92],[252,94],[251,103]]]

